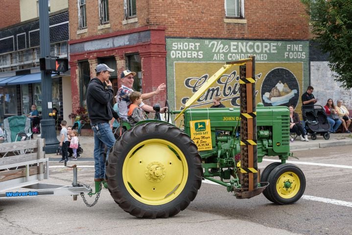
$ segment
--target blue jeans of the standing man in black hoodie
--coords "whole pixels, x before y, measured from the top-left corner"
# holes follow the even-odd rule
[[[104,148],[108,148],[106,153],[106,160],[108,160],[111,147],[115,143],[113,131],[110,124],[107,122],[94,124],[92,123],[92,130],[94,131],[94,179],[105,178],[105,162],[104,162]],[[97,127],[97,128],[96,128]]]

